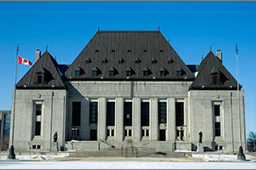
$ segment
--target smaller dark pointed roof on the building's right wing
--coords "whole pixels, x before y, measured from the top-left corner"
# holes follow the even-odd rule
[[[212,84],[212,75],[214,74],[219,74],[220,83]],[[236,79],[210,51],[201,61],[198,75],[190,89],[236,89],[236,83]]]

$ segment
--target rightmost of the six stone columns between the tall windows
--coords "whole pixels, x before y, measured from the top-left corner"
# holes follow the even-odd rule
[[[176,140],[175,99],[167,99],[167,140]]]

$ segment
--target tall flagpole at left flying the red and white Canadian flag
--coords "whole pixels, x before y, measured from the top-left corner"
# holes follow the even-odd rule
[[[11,146],[9,148],[8,159],[15,159],[15,147],[14,147],[14,139],[15,139],[15,103],[16,103],[16,83],[17,83],[17,66],[18,66],[18,54],[19,54],[19,44],[16,49],[16,62],[15,62],[15,96],[14,96],[14,109],[13,109],[13,126],[12,126],[12,141]]]

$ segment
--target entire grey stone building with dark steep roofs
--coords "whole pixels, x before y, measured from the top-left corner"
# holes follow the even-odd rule
[[[58,150],[196,150],[200,132],[205,150],[238,150],[236,80],[220,50],[185,65],[160,31],[97,31],[71,65],[48,51],[36,60],[16,85],[15,150],[53,150],[55,132]]]

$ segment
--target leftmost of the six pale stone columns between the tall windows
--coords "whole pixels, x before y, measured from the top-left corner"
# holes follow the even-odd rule
[[[81,140],[89,139],[89,101],[82,99],[81,101]]]

